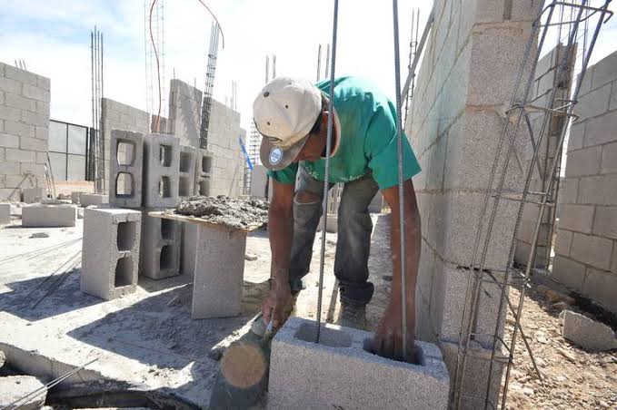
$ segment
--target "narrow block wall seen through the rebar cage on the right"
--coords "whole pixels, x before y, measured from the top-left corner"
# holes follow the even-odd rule
[[[570,87],[572,84],[572,66],[574,59],[572,56],[568,57],[569,69],[562,73],[562,78],[558,79],[557,67],[562,63],[564,57],[565,47],[558,45],[551,50],[550,53],[544,55],[538,62],[535,71],[535,81],[532,84],[532,104],[544,107],[547,105],[547,101],[552,96],[552,90],[555,89],[554,98],[550,107],[559,107],[563,104],[563,99],[567,99],[570,95]],[[538,161],[543,175],[541,177],[537,165],[532,166],[532,147],[528,146],[523,164],[525,169],[532,167],[532,181],[530,190],[535,192],[546,192],[548,190],[550,176],[548,171],[552,167],[552,163],[555,158],[557,161],[561,161],[561,155],[557,152],[557,142],[562,133],[563,127],[566,122],[562,117],[552,117],[542,112],[535,112],[530,114],[530,120],[532,122],[532,130],[534,132],[534,139],[537,141],[540,138],[540,132],[542,124],[544,125],[544,137],[539,147]],[[556,184],[555,184],[556,185]],[[550,199],[555,202],[556,186],[554,187],[553,198]],[[542,200],[541,196],[535,195],[530,197],[531,200]],[[533,230],[538,218],[540,207],[532,204],[525,204],[522,211],[521,226],[517,232],[516,250],[514,253],[514,261],[526,265],[529,259],[529,252],[532,247]],[[535,253],[536,268],[548,268],[549,257],[551,252],[553,221],[555,218],[555,209],[546,208],[542,217],[540,225],[540,231],[538,234],[538,247]]]

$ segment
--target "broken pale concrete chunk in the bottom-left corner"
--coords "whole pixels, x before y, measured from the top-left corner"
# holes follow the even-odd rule
[[[19,400],[38,389],[41,389],[40,393]],[[47,388],[34,376],[0,377],[0,408],[37,410],[45,405],[46,397]],[[11,405],[17,400],[15,405]]]

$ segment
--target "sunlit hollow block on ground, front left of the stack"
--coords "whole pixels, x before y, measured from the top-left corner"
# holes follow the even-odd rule
[[[105,300],[134,292],[141,213],[88,208],[84,217],[82,291]]]

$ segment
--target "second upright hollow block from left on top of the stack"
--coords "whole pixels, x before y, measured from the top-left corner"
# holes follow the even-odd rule
[[[174,135],[152,133],[144,138],[144,207],[173,208],[178,204],[180,142]]]

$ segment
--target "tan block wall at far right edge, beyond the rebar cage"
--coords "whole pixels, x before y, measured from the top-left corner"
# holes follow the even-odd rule
[[[587,70],[578,101],[552,277],[617,313],[617,52]]]

